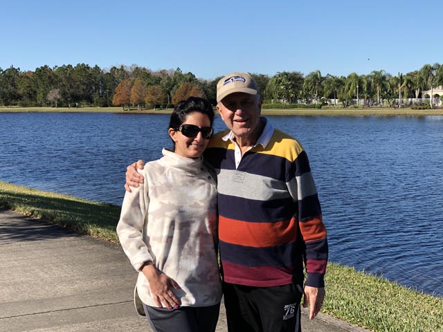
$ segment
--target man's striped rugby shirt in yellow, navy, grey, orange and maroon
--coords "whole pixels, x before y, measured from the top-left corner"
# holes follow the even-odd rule
[[[246,286],[323,287],[327,236],[306,152],[266,125],[236,167],[233,133],[205,151],[218,176],[219,248],[224,281]],[[237,158],[239,159],[239,158]]]

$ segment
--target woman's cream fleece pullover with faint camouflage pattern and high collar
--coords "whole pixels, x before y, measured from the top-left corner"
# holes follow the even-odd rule
[[[181,287],[182,306],[212,306],[221,300],[217,264],[217,187],[203,158],[191,159],[163,149],[163,157],[139,171],[140,187],[123,199],[117,234],[138,271],[138,295],[156,306],[145,275],[146,261]]]

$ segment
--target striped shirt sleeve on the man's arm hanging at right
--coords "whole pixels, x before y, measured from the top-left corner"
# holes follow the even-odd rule
[[[289,192],[296,203],[296,218],[305,244],[306,285],[324,287],[328,246],[326,228],[320,208],[314,178],[305,151],[298,154],[291,170],[295,178],[289,182]]]

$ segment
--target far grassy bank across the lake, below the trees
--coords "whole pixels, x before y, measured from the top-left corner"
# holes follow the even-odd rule
[[[136,108],[123,111],[121,107],[82,107],[79,109],[59,107],[0,107],[0,113],[27,113],[27,112],[53,112],[53,113],[124,113],[124,114],[168,114],[172,109],[143,109]],[[443,109],[262,109],[262,114],[267,116],[443,116]]]

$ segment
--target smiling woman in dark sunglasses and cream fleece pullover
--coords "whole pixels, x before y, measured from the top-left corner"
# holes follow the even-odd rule
[[[221,300],[217,187],[203,152],[214,112],[191,97],[174,109],[174,151],[141,170],[145,181],[123,200],[117,234],[138,270],[136,292],[154,331],[215,331]]]

